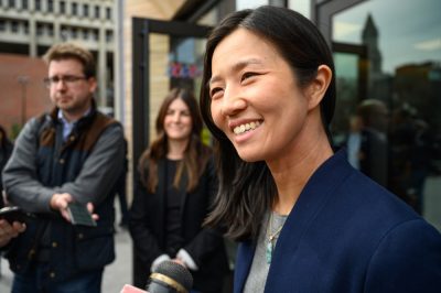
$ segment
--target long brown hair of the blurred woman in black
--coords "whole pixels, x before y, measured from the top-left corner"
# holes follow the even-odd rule
[[[184,152],[184,159],[178,164],[173,186],[176,188],[179,187],[181,177],[185,172],[187,177],[186,191],[191,192],[195,188],[211,155],[211,149],[201,141],[203,123],[194,95],[189,89],[172,89],[163,100],[158,113],[158,137],[151,143],[150,148],[142,153],[139,160],[141,182],[151,193],[154,193],[158,187],[158,162],[161,159],[165,159],[169,152],[168,137],[164,131],[164,119],[170,105],[176,99],[182,99],[189,107],[190,117],[192,118],[192,132]]]

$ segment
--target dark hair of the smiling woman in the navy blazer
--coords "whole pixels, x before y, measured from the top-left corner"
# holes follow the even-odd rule
[[[246,29],[269,41],[291,66],[300,87],[309,85],[320,65],[334,73],[331,51],[316,26],[289,9],[265,6],[227,15],[208,36],[201,87],[202,117],[217,140],[219,151],[219,192],[206,225],[223,225],[226,236],[235,240],[256,239],[261,219],[277,195],[276,183],[265,162],[247,163],[237,154],[232,142],[213,122],[209,79],[216,46],[237,29]],[[323,97],[320,109],[323,128],[330,140],[329,124],[335,106],[335,78]]]

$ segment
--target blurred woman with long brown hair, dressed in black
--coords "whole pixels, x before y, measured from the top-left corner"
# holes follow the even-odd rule
[[[158,137],[139,161],[130,209],[135,285],[164,260],[186,267],[194,292],[222,292],[228,270],[222,234],[202,228],[217,188],[212,150],[201,141],[193,94],[172,89],[159,110]]]

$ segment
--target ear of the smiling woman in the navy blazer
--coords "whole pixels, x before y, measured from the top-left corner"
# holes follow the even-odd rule
[[[322,101],[332,79],[332,70],[327,65],[320,65],[315,78],[308,86],[308,106],[312,110]]]

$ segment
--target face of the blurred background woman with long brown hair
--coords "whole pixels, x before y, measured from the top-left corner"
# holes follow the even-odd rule
[[[185,141],[192,132],[192,117],[186,104],[178,98],[173,100],[164,118],[164,131],[169,141]]]

